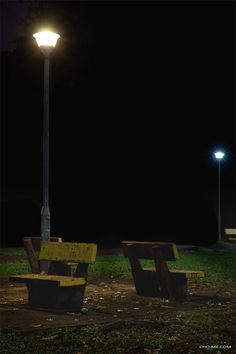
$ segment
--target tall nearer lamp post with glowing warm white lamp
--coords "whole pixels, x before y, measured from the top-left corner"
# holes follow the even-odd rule
[[[35,33],[33,37],[44,54],[44,120],[43,120],[43,206],[41,209],[41,241],[50,241],[49,211],[49,62],[59,34],[50,31]],[[47,271],[47,262],[41,263],[41,271]]]

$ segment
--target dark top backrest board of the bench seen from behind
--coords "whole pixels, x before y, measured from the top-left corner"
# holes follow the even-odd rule
[[[124,255],[128,257],[127,247],[132,245],[132,254],[140,259],[153,259],[153,246],[159,246],[164,261],[176,261],[179,259],[175,243],[171,242],[144,242],[144,241],[122,241]]]

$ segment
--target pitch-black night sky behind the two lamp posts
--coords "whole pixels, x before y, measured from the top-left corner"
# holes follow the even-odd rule
[[[30,3],[30,2],[28,2]],[[34,2],[43,5],[44,2]],[[236,227],[233,1],[1,3],[2,245],[40,235],[50,23],[52,236],[212,243]]]

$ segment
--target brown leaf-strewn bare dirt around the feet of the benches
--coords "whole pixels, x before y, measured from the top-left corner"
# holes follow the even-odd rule
[[[136,294],[132,281],[90,279],[84,297],[84,313],[55,314],[27,308],[28,294],[24,284],[9,283],[1,278],[1,327],[14,331],[33,331],[65,326],[100,324],[113,328],[130,321],[178,320],[183,311],[201,311],[211,304],[233,306],[235,298],[196,291],[183,301],[144,298]]]

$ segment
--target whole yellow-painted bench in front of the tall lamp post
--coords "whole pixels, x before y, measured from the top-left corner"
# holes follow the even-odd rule
[[[9,281],[27,285],[30,307],[78,312],[83,304],[88,266],[95,262],[96,254],[94,243],[43,242],[39,260],[50,261],[48,274],[15,275]],[[72,274],[71,265],[75,263]]]

